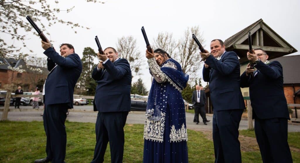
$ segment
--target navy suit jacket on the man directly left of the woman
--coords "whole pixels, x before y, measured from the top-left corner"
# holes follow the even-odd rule
[[[131,109],[131,69],[128,61],[119,58],[108,60],[105,69],[94,68],[92,78],[98,83],[95,93],[94,111],[129,112]]]

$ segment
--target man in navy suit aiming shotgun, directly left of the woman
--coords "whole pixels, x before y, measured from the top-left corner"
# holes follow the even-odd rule
[[[131,108],[131,69],[128,61],[119,58],[116,49],[108,47],[95,67],[92,78],[98,83],[94,111],[96,121],[96,146],[92,163],[104,162],[107,143],[110,142],[111,162],[123,160],[124,130]]]

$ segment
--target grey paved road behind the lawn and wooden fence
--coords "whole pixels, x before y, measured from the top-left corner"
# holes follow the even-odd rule
[[[41,108],[43,106],[40,106]],[[22,106],[21,109],[13,109],[10,107],[10,112],[8,112],[8,120],[10,121],[43,121],[41,113],[43,109],[31,109],[32,106]],[[3,109],[3,106],[0,106]],[[0,117],[2,117],[2,112],[0,112]],[[206,115],[207,119],[210,120],[208,125],[203,123],[195,124],[193,123],[194,114],[186,113],[187,128],[192,130],[212,130],[212,114]],[[97,118],[97,112],[93,112],[91,105],[85,106],[74,106],[74,109],[70,109],[70,113],[67,116],[68,121],[72,122],[91,122],[95,123]],[[128,114],[127,124],[144,124],[145,112],[132,111]],[[201,121],[201,118],[200,118]],[[253,123],[254,124],[254,123]],[[245,130],[248,128],[247,118],[242,118],[240,122],[239,130]],[[289,123],[289,132],[300,132],[300,125]]]

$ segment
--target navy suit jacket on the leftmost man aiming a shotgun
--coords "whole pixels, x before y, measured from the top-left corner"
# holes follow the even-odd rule
[[[73,53],[64,58],[51,47],[44,54],[48,57],[47,68],[50,71],[44,90],[46,105],[66,103],[73,108],[74,87],[82,71],[79,56]]]

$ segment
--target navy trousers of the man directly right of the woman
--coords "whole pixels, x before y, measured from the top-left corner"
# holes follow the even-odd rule
[[[241,163],[238,127],[243,109],[214,111],[212,137],[215,163]]]

